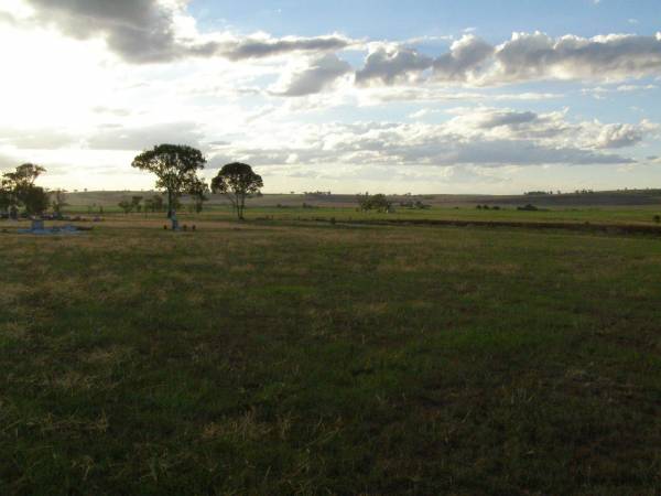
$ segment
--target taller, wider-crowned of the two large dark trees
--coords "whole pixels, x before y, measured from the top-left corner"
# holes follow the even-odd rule
[[[133,159],[132,166],[156,174],[156,187],[167,193],[167,218],[175,211],[175,201],[197,181],[197,171],[206,159],[199,150],[185,144],[159,144]]]

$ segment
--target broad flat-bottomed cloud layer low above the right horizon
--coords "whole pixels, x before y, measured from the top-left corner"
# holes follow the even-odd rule
[[[289,141],[273,137],[273,144],[263,147],[235,142],[223,149],[221,157],[261,166],[630,164],[633,159],[607,150],[635,144],[654,127],[571,122],[565,112],[478,108],[455,114],[442,123],[305,126],[286,130],[295,137]]]

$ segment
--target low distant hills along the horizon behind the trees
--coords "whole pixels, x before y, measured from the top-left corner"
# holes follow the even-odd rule
[[[67,203],[72,206],[117,206],[122,200],[131,196],[144,198],[158,194],[154,191],[88,191],[67,194]],[[264,194],[249,200],[253,206],[301,206],[303,203],[314,206],[350,207],[356,205],[357,195],[307,193],[307,194]],[[527,195],[389,195],[395,204],[400,202],[420,201],[432,206],[466,205],[525,205],[533,204],[546,207],[585,207],[585,206],[644,206],[661,205],[661,190],[625,190],[600,191],[565,194],[527,194]],[[183,198],[186,203],[186,198]],[[208,205],[226,205],[223,195],[209,195]]]

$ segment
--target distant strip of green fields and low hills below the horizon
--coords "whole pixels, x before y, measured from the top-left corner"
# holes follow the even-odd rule
[[[149,197],[154,192],[89,192],[73,193],[67,197],[67,212],[78,215],[117,214],[117,204],[133,195]],[[430,205],[430,208],[416,209],[399,206],[399,202],[410,201],[407,197],[393,197],[394,213],[361,213],[357,211],[356,196],[305,196],[305,195],[264,195],[248,202],[247,215],[251,218],[273,219],[326,219],[330,220],[370,220],[370,219],[456,219],[456,220],[494,220],[494,222],[561,222],[561,223],[613,223],[654,225],[655,215],[661,215],[661,196],[655,193],[595,193],[588,195],[548,195],[538,196],[467,196],[467,195],[426,195],[412,197]],[[620,203],[611,201],[614,196]],[[559,204],[549,205],[563,197]],[[576,204],[571,201],[584,201],[589,197],[596,204]],[[399,198],[399,200],[398,200]],[[545,198],[545,200],[544,200]],[[551,200],[550,200],[551,198]],[[573,198],[573,200],[572,200]],[[184,198],[185,201],[185,198]],[[611,203],[608,203],[608,202]],[[517,207],[533,204],[537,212],[521,212]],[[305,204],[305,207],[303,206]],[[93,206],[94,205],[94,206]],[[477,205],[488,205],[489,209],[478,209]],[[494,209],[498,206],[499,209]],[[180,217],[189,217],[184,205]],[[163,214],[130,214],[129,218],[162,218]],[[192,216],[194,218],[196,216]],[[203,218],[229,220],[232,218],[230,206],[223,196],[212,195],[205,205]]]

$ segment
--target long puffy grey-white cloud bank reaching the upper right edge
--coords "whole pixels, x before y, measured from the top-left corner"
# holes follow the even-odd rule
[[[473,34],[455,41],[436,58],[412,48],[380,47],[357,73],[358,83],[387,85],[420,80],[433,66],[432,78],[446,84],[499,86],[531,80],[613,82],[661,75],[661,33],[654,36],[607,34],[594,37],[541,32],[513,33],[491,46]]]

